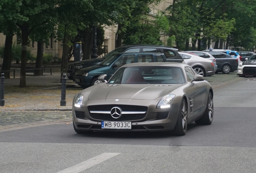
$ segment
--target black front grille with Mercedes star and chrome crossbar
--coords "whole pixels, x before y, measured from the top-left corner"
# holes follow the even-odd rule
[[[120,118],[113,118],[110,111],[114,107],[119,107],[123,112],[130,112],[123,114]],[[88,106],[89,115],[92,119],[101,121],[132,121],[144,119],[147,114],[147,107],[136,106],[136,105],[93,105]],[[102,111],[102,113],[92,113],[92,112]],[[104,113],[109,112],[109,113]],[[134,112],[134,113],[133,113]],[[136,113],[137,112],[137,113]],[[145,112],[145,113],[138,113]]]

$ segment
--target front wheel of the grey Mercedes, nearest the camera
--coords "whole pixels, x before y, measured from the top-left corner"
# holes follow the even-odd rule
[[[172,135],[184,136],[188,129],[188,106],[185,99],[182,99],[177,123],[171,131]]]

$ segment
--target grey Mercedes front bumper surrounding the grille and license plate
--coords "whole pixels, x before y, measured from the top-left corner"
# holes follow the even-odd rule
[[[111,101],[112,100],[112,101]],[[115,99],[107,99],[105,101],[102,100],[96,100],[96,101],[90,101],[90,104],[86,104],[87,107],[84,108],[72,108],[72,117],[73,122],[78,130],[83,131],[168,131],[173,130],[177,118],[178,118],[178,112],[179,112],[179,106],[170,107],[168,109],[156,109],[156,105],[150,105],[149,101],[145,100],[131,100],[131,99],[120,99],[120,103],[122,103],[124,100],[126,100],[126,105],[117,105]],[[105,103],[103,103],[105,102]],[[142,119],[129,119],[127,117],[120,119],[115,119],[114,121],[119,122],[132,122],[132,129],[101,129],[101,121],[113,121],[111,119],[111,115],[105,114],[104,118],[95,118],[95,116],[92,115],[91,112],[89,112],[88,107],[92,105],[99,105],[99,103],[103,103],[104,105],[111,105],[111,107],[117,105],[118,107],[126,106],[126,107],[134,107],[141,106],[141,107],[147,107],[147,113],[145,113],[145,116],[142,117]],[[106,110],[103,110],[106,111]],[[110,110],[107,110],[110,111]],[[82,116],[81,116],[82,115]],[[160,115],[160,116],[159,116]],[[123,115],[129,116],[129,115]],[[106,120],[107,119],[107,120]]]

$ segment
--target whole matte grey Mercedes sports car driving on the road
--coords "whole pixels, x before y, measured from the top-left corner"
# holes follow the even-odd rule
[[[76,133],[168,131],[185,135],[188,123],[212,123],[213,89],[187,64],[126,64],[108,81],[76,94],[72,116]]]

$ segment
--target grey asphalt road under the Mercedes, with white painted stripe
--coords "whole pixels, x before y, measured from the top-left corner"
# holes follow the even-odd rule
[[[214,89],[212,125],[78,135],[71,121],[0,132],[0,173],[255,173],[256,78]]]

